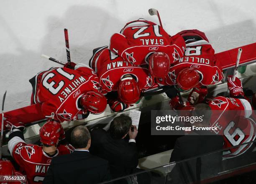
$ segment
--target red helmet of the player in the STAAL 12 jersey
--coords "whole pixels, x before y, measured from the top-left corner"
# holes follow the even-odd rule
[[[155,52],[148,57],[148,69],[152,76],[165,77],[170,68],[170,59],[164,52]]]

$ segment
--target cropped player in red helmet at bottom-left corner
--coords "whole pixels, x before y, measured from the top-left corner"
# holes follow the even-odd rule
[[[15,171],[13,164],[8,160],[0,160],[0,176],[14,176],[16,178],[12,180],[9,179],[9,181],[1,181],[0,184],[28,184],[28,180],[22,180],[23,174],[21,174],[19,171]]]

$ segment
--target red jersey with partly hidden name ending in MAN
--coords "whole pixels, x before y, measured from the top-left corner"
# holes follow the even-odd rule
[[[105,49],[101,52],[95,62],[95,71],[100,79],[102,94],[117,90],[120,79],[131,74],[136,78],[141,90],[154,86],[154,77],[150,75],[148,69],[135,66],[123,58]]]

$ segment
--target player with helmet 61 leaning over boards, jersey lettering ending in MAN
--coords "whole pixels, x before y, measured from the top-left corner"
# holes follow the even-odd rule
[[[99,77],[102,94],[107,96],[108,104],[115,112],[129,107],[139,100],[143,90],[154,86],[154,77],[147,68],[124,61],[107,48],[97,49],[91,61]]]

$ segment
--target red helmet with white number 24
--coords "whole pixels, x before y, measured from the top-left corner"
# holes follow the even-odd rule
[[[56,145],[59,139],[63,139],[65,135],[61,124],[54,120],[46,122],[40,128],[39,134],[41,143],[47,144],[49,146]]]

